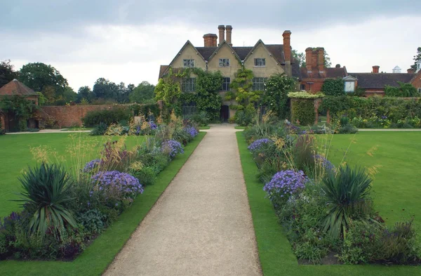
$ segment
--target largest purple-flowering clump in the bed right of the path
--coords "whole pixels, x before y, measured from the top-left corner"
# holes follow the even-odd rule
[[[290,195],[300,192],[304,188],[305,182],[306,178],[302,171],[279,171],[275,173],[272,180],[265,185],[263,190],[267,192],[267,197],[277,209],[286,203]]]

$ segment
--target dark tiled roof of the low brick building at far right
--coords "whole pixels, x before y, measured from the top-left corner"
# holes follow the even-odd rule
[[[399,86],[398,81],[403,83],[410,83],[415,74],[408,73],[348,73],[355,77],[358,81],[358,86],[366,89],[379,88],[383,89],[385,86]]]

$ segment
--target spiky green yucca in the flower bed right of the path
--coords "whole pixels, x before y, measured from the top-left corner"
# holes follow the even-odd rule
[[[359,218],[371,208],[368,193],[371,179],[361,168],[340,167],[337,173],[328,171],[323,178],[322,191],[328,210],[323,220],[323,231],[332,237],[345,235],[352,218]]]

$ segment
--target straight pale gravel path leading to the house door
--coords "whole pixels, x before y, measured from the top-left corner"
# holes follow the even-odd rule
[[[207,131],[104,275],[262,275],[235,131]]]

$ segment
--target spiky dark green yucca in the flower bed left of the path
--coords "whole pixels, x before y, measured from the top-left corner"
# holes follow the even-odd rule
[[[43,162],[30,168],[19,178],[23,192],[21,199],[27,210],[35,210],[29,221],[29,232],[44,237],[48,229],[60,232],[66,224],[76,228],[76,221],[65,204],[72,200],[72,178],[59,164]]]

